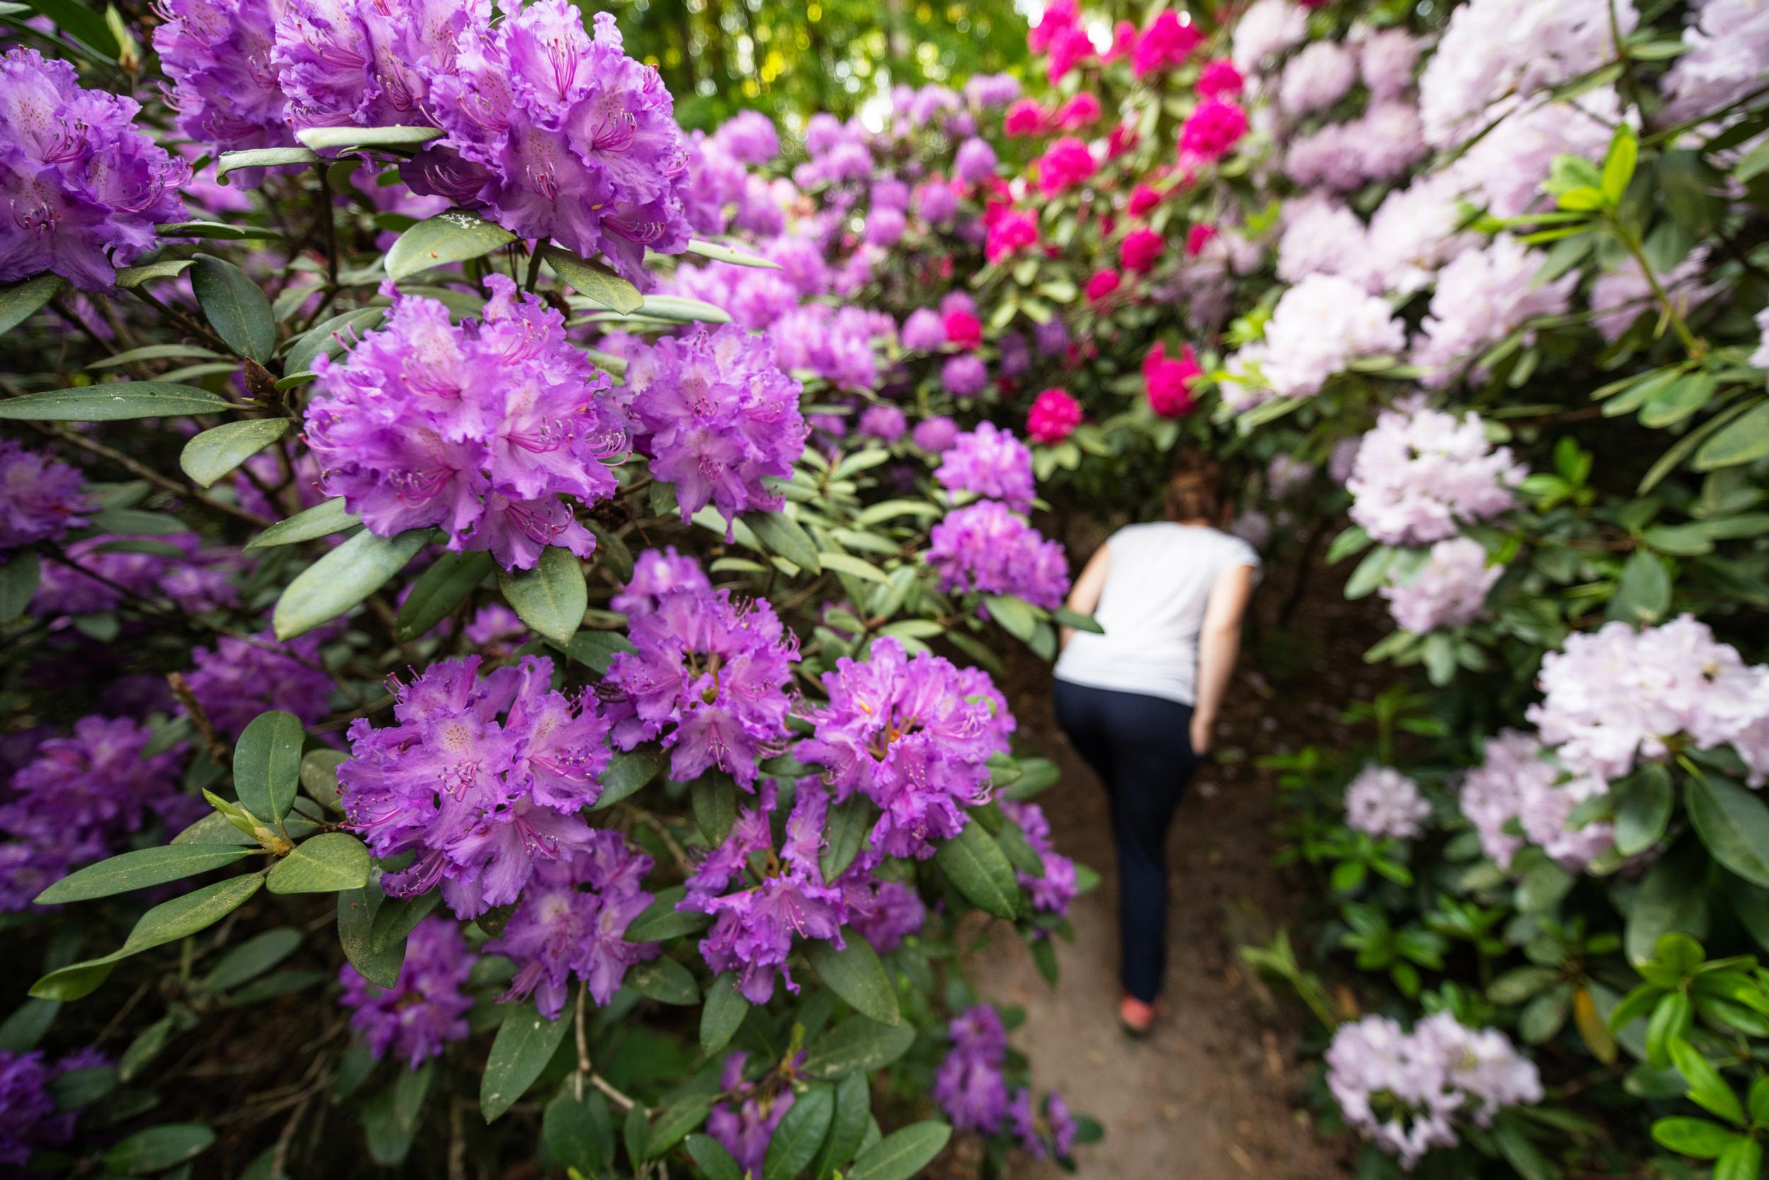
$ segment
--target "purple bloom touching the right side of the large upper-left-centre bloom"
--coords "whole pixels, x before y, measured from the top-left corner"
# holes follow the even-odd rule
[[[708,504],[725,520],[780,510],[762,479],[791,478],[805,451],[798,395],[768,338],[734,324],[632,345],[621,391],[653,474],[676,485],[685,522]]]

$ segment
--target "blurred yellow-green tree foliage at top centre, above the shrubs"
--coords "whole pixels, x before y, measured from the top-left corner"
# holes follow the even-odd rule
[[[1024,74],[1026,11],[1044,0],[624,0],[626,51],[663,74],[685,127],[754,108],[800,126],[849,117],[893,85]]]

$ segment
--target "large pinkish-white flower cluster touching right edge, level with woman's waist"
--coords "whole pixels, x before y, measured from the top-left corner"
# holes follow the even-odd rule
[[[1684,736],[1696,748],[1730,745],[1751,785],[1769,775],[1769,665],[1684,614],[1635,630],[1604,623],[1543,656],[1541,704],[1528,718],[1574,775],[1620,778],[1636,759],[1665,757]]]

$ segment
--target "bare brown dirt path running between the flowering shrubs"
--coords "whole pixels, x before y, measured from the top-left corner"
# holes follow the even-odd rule
[[[1283,591],[1267,587],[1265,614]],[[1311,587],[1302,626],[1336,633],[1346,603],[1336,586]],[[1272,635],[1268,630],[1267,635]],[[1272,651],[1274,640],[1265,640]],[[1286,646],[1291,663],[1295,644]],[[1060,851],[1102,876],[1093,893],[1074,904],[1074,943],[1058,943],[1061,984],[1045,985],[1017,941],[994,945],[973,978],[996,1003],[1026,1008],[1015,1046],[1028,1054],[1038,1084],[1056,1084],[1070,1107],[1106,1127],[1106,1139],[1079,1155],[1081,1175],[1111,1180],[1339,1180],[1350,1176],[1341,1145],[1323,1141],[1302,1109],[1304,1067],[1293,1044],[1295,1008],[1275,1007],[1251,980],[1235,946],[1267,936],[1283,922],[1295,888],[1274,869],[1277,801],[1268,771],[1252,755],[1272,752],[1279,732],[1298,729],[1330,738],[1337,711],[1352,699],[1362,665],[1307,660],[1320,672],[1304,686],[1274,693],[1244,658],[1228,716],[1224,750],[1240,762],[1205,766],[1183,800],[1169,840],[1173,916],[1164,1003],[1168,1015],[1145,1042],[1116,1024],[1118,932],[1116,862],[1099,780],[1056,731],[1047,676],[1019,683],[1015,715],[1022,731],[1061,762],[1063,778],[1038,801]],[[1325,667],[1329,665],[1330,667]],[[1017,669],[1015,669],[1017,670]],[[1295,670],[1295,669],[1291,669]],[[1037,678],[1038,674],[1033,672]],[[1332,704],[1327,704],[1327,701]],[[1233,755],[1231,755],[1233,757]],[[1015,1180],[1061,1175],[1054,1166],[1022,1164]]]

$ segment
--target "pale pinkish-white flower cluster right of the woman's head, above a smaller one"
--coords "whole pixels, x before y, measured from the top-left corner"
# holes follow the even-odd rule
[[[1509,510],[1528,471],[1493,448],[1477,414],[1413,398],[1376,418],[1346,488],[1352,520],[1383,545],[1429,545]]]

